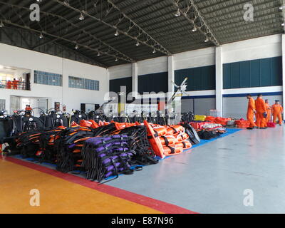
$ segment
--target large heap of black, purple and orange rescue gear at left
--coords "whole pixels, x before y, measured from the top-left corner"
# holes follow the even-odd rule
[[[11,131],[6,134],[9,137],[5,135],[9,138],[5,150],[53,163],[61,172],[80,171],[98,182],[133,174],[142,166],[157,164],[158,157],[179,155],[200,141],[188,123],[192,113],[183,115],[185,122],[179,125],[167,125],[158,115],[152,123],[119,123],[78,111],[71,118],[56,111],[40,118],[31,114],[26,111],[7,118]]]

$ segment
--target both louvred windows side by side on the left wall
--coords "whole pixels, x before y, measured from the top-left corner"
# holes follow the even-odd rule
[[[34,83],[48,86],[63,86],[63,77],[61,74],[57,73],[34,71]],[[99,90],[99,81],[69,76],[68,87],[86,90]]]

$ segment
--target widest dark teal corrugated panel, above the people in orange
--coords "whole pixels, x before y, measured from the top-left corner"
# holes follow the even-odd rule
[[[224,64],[224,89],[282,86],[282,58]]]

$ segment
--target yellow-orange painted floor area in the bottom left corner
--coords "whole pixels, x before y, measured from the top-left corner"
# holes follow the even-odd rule
[[[5,160],[0,160],[0,186],[0,213],[161,213]],[[32,189],[40,192],[39,207],[30,205]]]

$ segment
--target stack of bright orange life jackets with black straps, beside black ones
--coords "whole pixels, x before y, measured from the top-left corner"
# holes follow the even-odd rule
[[[182,125],[151,125],[144,121],[147,128],[147,138],[150,141],[152,150],[158,157],[164,158],[170,155],[179,155],[183,150],[192,147],[189,135],[185,133]]]

